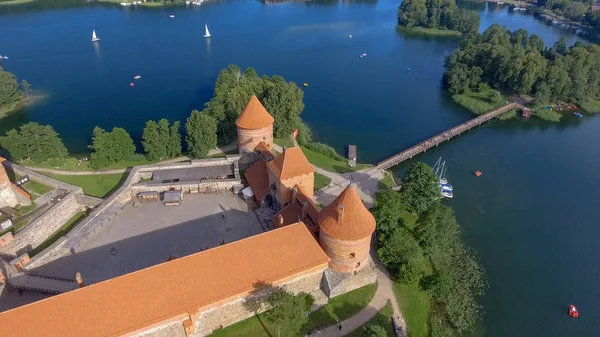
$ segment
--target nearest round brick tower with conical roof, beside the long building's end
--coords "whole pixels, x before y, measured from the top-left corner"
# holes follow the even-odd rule
[[[352,185],[319,213],[319,241],[331,261],[329,268],[357,273],[369,260],[375,218]]]

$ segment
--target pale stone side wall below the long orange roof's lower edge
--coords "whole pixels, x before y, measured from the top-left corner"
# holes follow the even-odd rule
[[[287,291],[298,293],[307,293],[319,289],[321,284],[321,278],[323,277],[323,270],[320,269],[312,273],[301,275],[295,279],[287,281],[282,286]],[[256,314],[252,308],[258,309],[258,312],[262,312],[268,307],[266,305],[250,304],[249,303],[261,303],[264,299],[271,294],[273,288],[265,287],[264,290],[252,294],[250,296],[239,297],[232,299],[225,304],[214,306],[203,311],[200,311],[196,315],[196,331],[193,334],[195,337],[206,336],[211,334],[214,330],[227,327],[236,322],[249,318]]]

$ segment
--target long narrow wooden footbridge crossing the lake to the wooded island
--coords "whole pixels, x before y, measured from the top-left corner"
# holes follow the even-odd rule
[[[412,157],[414,157],[415,155],[417,155],[419,153],[426,152],[428,149],[430,149],[434,146],[438,146],[440,143],[445,142],[452,137],[456,137],[463,132],[469,131],[472,128],[477,127],[487,121],[490,121],[491,119],[494,119],[494,118],[502,115],[503,113],[505,113],[509,110],[515,109],[515,108],[523,108],[523,106],[520,105],[519,103],[509,103],[509,104],[507,104],[503,107],[500,107],[494,111],[488,112],[488,113],[478,116],[478,117],[475,117],[471,120],[468,120],[460,125],[453,127],[450,130],[446,130],[442,133],[439,133],[439,134],[427,139],[424,142],[421,142],[413,147],[410,147],[398,154],[395,154],[395,155],[389,157],[386,160],[383,160],[383,161],[377,163],[377,167],[382,170],[387,170],[392,166],[398,165],[405,160],[411,159]]]

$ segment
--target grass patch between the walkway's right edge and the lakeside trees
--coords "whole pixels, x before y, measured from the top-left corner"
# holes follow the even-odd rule
[[[427,292],[394,282],[394,293],[411,337],[429,336],[430,301]]]

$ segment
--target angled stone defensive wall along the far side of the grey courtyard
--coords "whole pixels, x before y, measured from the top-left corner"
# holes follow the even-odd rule
[[[146,191],[163,192],[172,189],[183,190],[184,193],[192,190],[199,193],[231,190],[234,186],[241,184],[238,160],[239,155],[231,155],[224,158],[133,167],[127,179],[118,190],[96,206],[67,235],[61,237],[54,244],[34,256],[31,262],[25,266],[25,269],[32,270],[62,257],[76,254],[90,237],[98,233],[104,226],[112,223],[123,207],[132,201],[137,193]],[[219,165],[233,165],[233,178],[169,183],[153,183],[149,180],[152,178],[154,172],[161,170],[190,169]],[[81,202],[89,204],[97,201],[94,199],[96,198],[85,197],[81,199]]]

